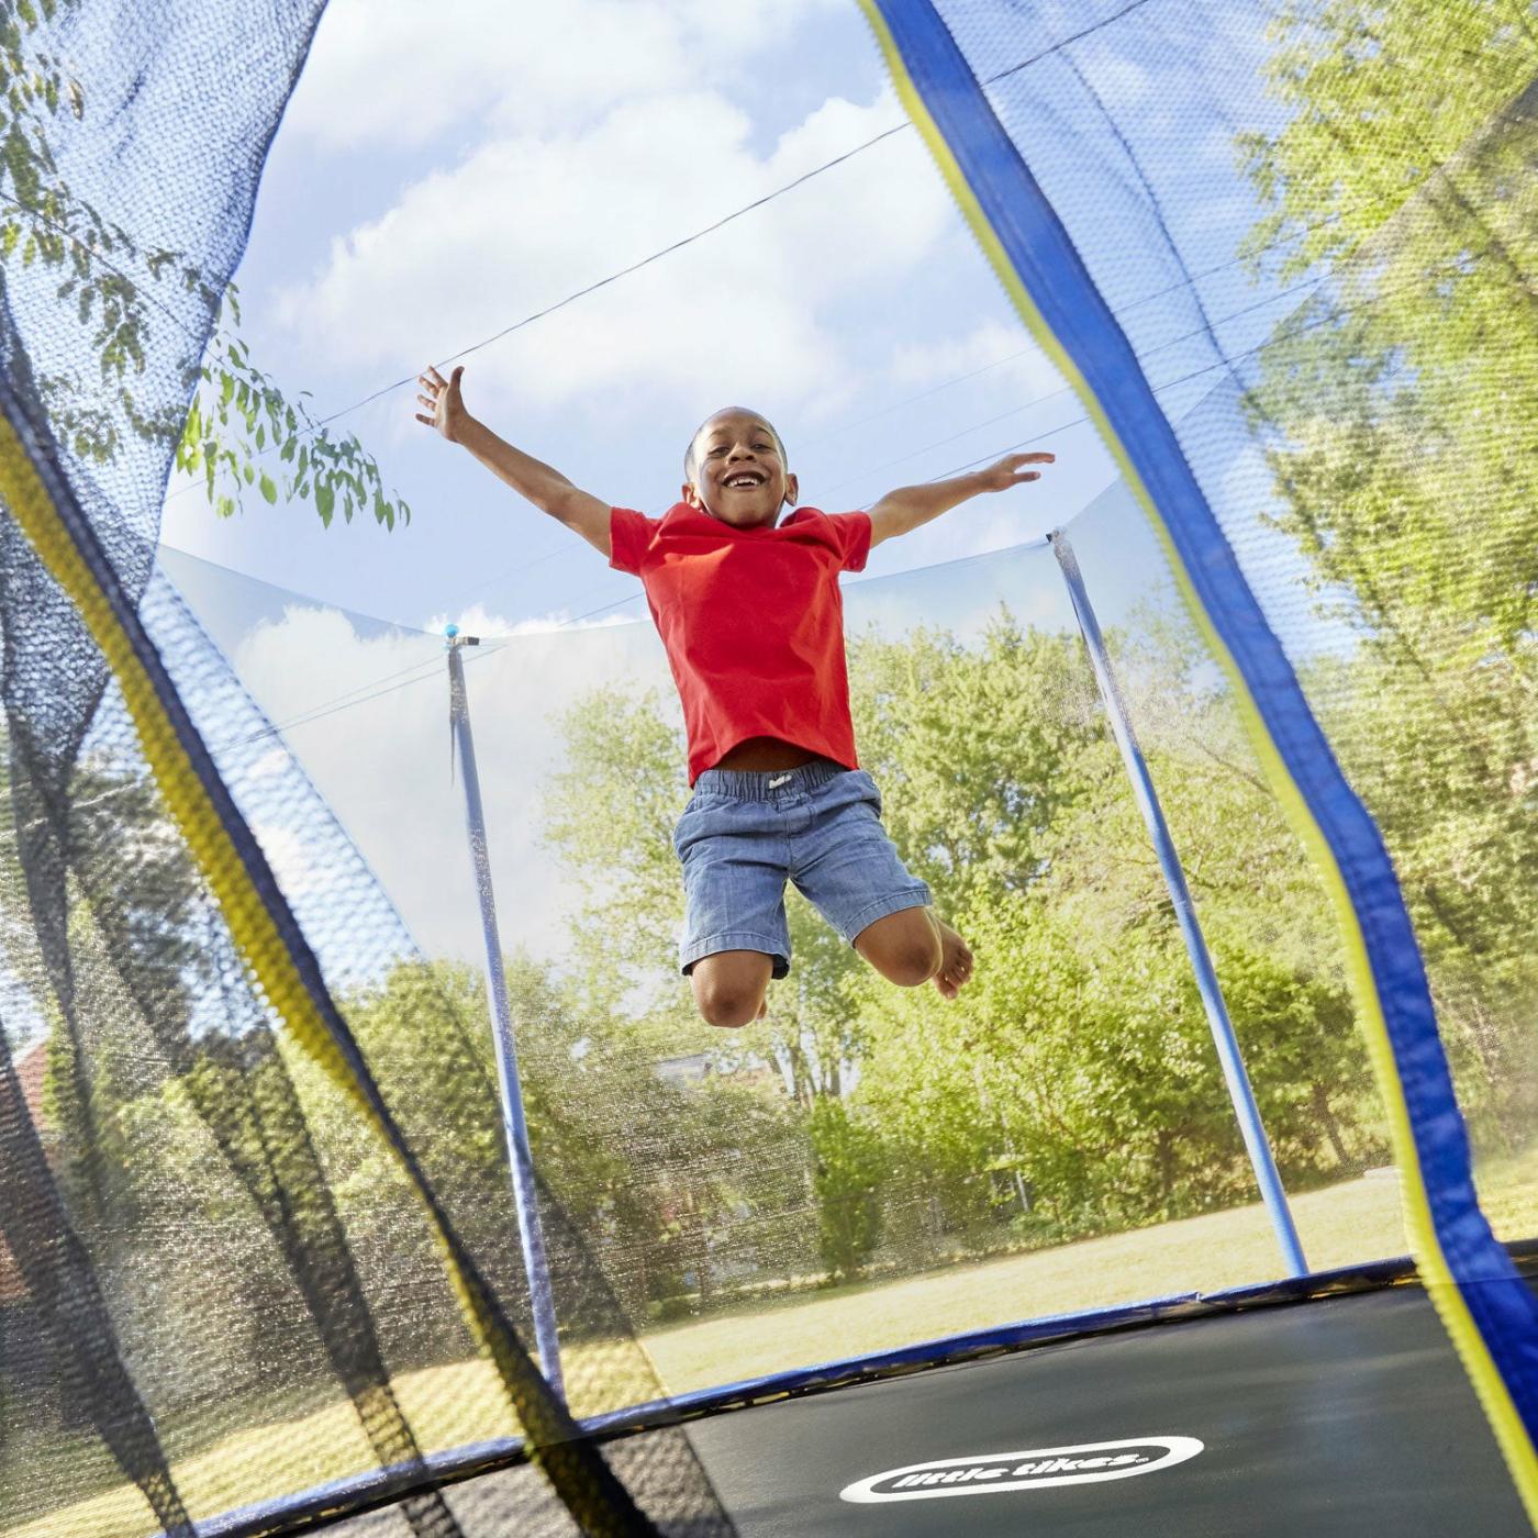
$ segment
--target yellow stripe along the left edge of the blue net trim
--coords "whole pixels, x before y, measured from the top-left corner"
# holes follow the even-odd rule
[[[1383,1004],[1378,998],[1378,989],[1372,978],[1372,967],[1367,960],[1367,947],[1357,918],[1357,909],[1352,906],[1346,883],[1341,878],[1335,852],[1330,849],[1324,834],[1320,831],[1318,823],[1313,820],[1313,814],[1309,811],[1307,801],[1304,801],[1303,794],[1298,791],[1292,775],[1287,772],[1287,766],[1283,761],[1277,744],[1272,741],[1270,732],[1266,729],[1266,723],[1250,695],[1244,675],[1240,672],[1238,664],[1229,654],[1229,649],[1218,635],[1212,620],[1207,617],[1201,600],[1197,597],[1197,591],[1190,583],[1186,568],[1175,548],[1175,541],[1170,538],[1169,529],[1166,528],[1152,495],[1143,484],[1143,480],[1132,464],[1121,440],[1117,437],[1115,429],[1106,418],[1100,401],[1084,383],[1084,378],[1078,372],[1074,360],[1063,349],[1063,345],[1058,341],[1057,335],[1037,309],[1035,301],[1030,298],[1024,283],[1020,280],[1020,274],[1015,271],[1014,263],[1010,263],[1003,243],[994,231],[994,226],[989,223],[987,215],[983,212],[981,205],[972,192],[972,188],[967,185],[961,166],[950,152],[950,146],[946,143],[944,135],[929,115],[929,109],[924,106],[918,88],[909,77],[903,55],[886,25],[886,17],[881,15],[875,0],[860,0],[860,6],[866,14],[866,20],[871,23],[871,29],[875,32],[877,45],[886,58],[892,83],[897,86],[897,94],[901,98],[903,106],[907,109],[914,126],[929,146],[929,152],[934,155],[935,165],[940,168],[940,174],[946,178],[946,185],[950,188],[952,197],[955,197],[963,217],[972,228],[972,234],[977,237],[978,245],[983,248],[983,254],[987,257],[998,280],[1004,285],[1004,291],[1009,295],[1010,303],[1015,306],[1015,311],[1020,314],[1020,318],[1024,321],[1026,329],[1035,338],[1038,346],[1041,346],[1043,351],[1052,358],[1058,371],[1078,394],[1084,409],[1089,412],[1090,420],[1095,423],[1101,440],[1121,469],[1121,475],[1126,480],[1129,491],[1138,500],[1138,504],[1147,515],[1160,543],[1164,546],[1164,555],[1169,561],[1172,574],[1175,575],[1175,583],[1186,601],[1186,608],[1190,611],[1190,615],[1206,640],[1209,651],[1218,660],[1233,687],[1233,694],[1240,706],[1240,715],[1244,721],[1257,757],[1266,771],[1266,778],[1270,783],[1272,794],[1281,804],[1283,812],[1293,831],[1313,855],[1313,860],[1320,867],[1320,874],[1324,877],[1324,884],[1330,894],[1337,921],[1341,927],[1341,940],[1344,943],[1347,958],[1347,972],[1350,975],[1357,1007],[1363,1018],[1367,1050],[1378,1078],[1378,1089],[1389,1110],[1395,1163],[1404,1177],[1404,1221],[1406,1229],[1409,1230],[1410,1252],[1413,1253],[1415,1264],[1418,1266],[1421,1278],[1426,1283],[1426,1290],[1441,1317],[1443,1326],[1447,1330],[1455,1350],[1458,1352],[1464,1372],[1467,1372],[1480,1404],[1484,1407],[1484,1413],[1490,1421],[1495,1440],[1506,1458],[1506,1466],[1510,1470],[1513,1483],[1516,1484],[1523,1506],[1527,1509],[1527,1520],[1533,1524],[1533,1530],[1538,1532],[1538,1455],[1535,1455],[1532,1438],[1527,1435],[1527,1427],[1523,1426],[1523,1420],[1516,1413],[1516,1406],[1512,1403],[1506,1380],[1501,1377],[1500,1369],[1490,1357],[1484,1337],[1480,1333],[1480,1327],[1469,1313],[1469,1306],[1464,1301],[1463,1293],[1458,1290],[1452,1275],[1452,1267],[1447,1264],[1441,1243],[1436,1238],[1436,1226],[1432,1220],[1430,1203],[1426,1197],[1426,1180],[1421,1170],[1420,1157],[1415,1150],[1415,1138],[1410,1130],[1410,1114],[1404,1101],[1404,1087],[1400,1081],[1398,1063],[1393,1057],[1393,1046],[1389,1041],[1389,1029],[1383,1017]]]

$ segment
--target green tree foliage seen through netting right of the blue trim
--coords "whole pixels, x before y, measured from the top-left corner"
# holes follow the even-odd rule
[[[1538,23],[1523,5],[1290,6],[1244,143],[1249,249],[1329,288],[1249,397],[1280,524],[1357,655],[1306,683],[1395,857],[1466,1101],[1530,1120],[1538,997]]]

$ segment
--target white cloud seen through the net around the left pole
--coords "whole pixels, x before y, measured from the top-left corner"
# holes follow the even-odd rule
[[[484,611],[464,620],[481,634],[517,629]],[[449,778],[446,669],[432,666],[441,655],[434,637],[363,638],[338,611],[298,606],[234,647],[241,683],[272,721],[357,701],[291,724],[285,740],[423,949],[477,960],[464,803]],[[544,784],[560,764],[557,717],[617,678],[667,689],[661,646],[649,624],[523,635],[466,654],[464,677],[503,943],[560,958],[575,892],[541,827]],[[257,835],[291,897],[315,891],[320,875],[294,834],[265,818]]]

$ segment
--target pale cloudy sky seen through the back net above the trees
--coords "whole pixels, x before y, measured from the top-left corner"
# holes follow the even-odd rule
[[[320,803],[417,944],[431,955],[477,960],[481,930],[463,789],[449,751],[441,638],[301,601],[169,549],[160,571],[281,729],[312,786],[294,778],[271,735],[257,738],[248,718],[209,701],[198,726],[301,921],[315,921],[306,927],[329,975],[355,975],[358,930],[338,930],[328,954],[317,927],[337,906],[325,874],[334,851],[317,835]],[[878,577],[851,586],[846,598],[851,634],[900,638],[924,624],[974,638],[1003,608],[1044,629],[1074,623],[1057,563],[1037,543]],[[531,631],[463,655],[501,935],[508,949],[558,963],[569,954],[566,915],[581,898],[544,840],[544,795],[563,764],[560,717],[584,692],[606,686],[628,698],[655,691],[677,720],[666,657],[647,620],[623,617]],[[191,704],[197,718],[198,691]],[[680,777],[681,767],[680,760]]]

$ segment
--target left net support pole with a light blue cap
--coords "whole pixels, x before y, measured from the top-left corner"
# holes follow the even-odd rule
[[[508,1004],[508,974],[501,961],[501,940],[497,934],[497,897],[491,884],[486,815],[481,811],[480,775],[475,771],[475,737],[471,732],[471,701],[464,689],[464,661],[460,657],[463,647],[478,644],[478,637],[460,635],[455,624],[446,631],[449,726],[460,758],[460,781],[464,786],[464,827],[469,835],[471,864],[475,869],[475,892],[480,898],[481,935],[486,941],[486,990],[491,995],[491,1030],[497,1049],[501,1130],[508,1141],[512,1201],[518,1213],[518,1241],[523,1246],[523,1270],[529,1280],[529,1301],[534,1307],[534,1344],[540,1353],[540,1367],[546,1383],[555,1397],[564,1401],[561,1349],[555,1327],[555,1295],[551,1290],[551,1267],[544,1253],[544,1227],[540,1223],[540,1195],[534,1180],[529,1126],[523,1115],[518,1047],[512,1032],[512,1009]]]

